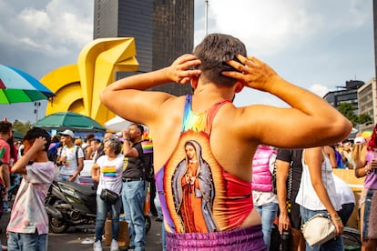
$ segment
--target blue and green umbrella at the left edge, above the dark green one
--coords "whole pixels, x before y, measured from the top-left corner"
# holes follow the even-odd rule
[[[14,67],[0,65],[0,104],[34,102],[54,95],[33,76]]]

